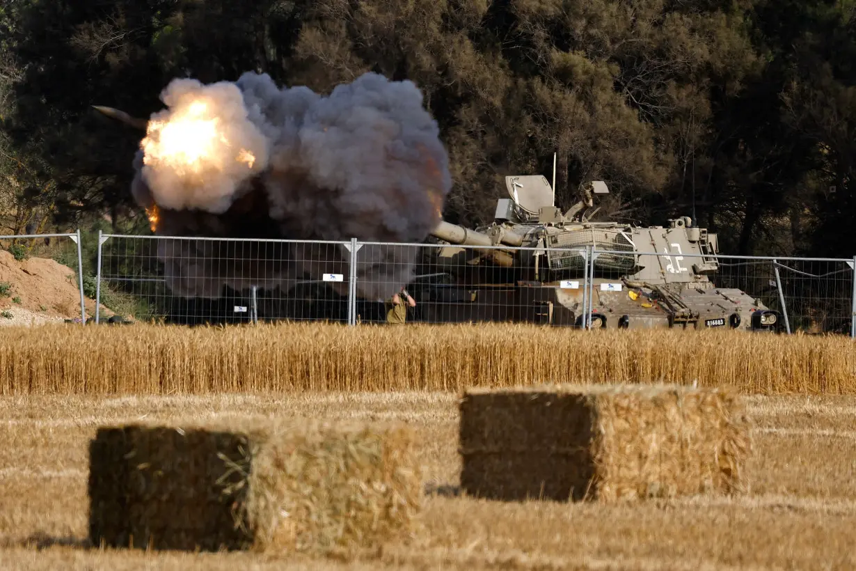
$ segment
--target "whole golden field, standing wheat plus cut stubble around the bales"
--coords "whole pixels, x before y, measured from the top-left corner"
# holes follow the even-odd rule
[[[633,381],[630,375],[647,371],[645,376],[652,381],[715,384],[714,378],[705,375],[723,372],[723,384],[734,384],[746,393],[754,423],[754,452],[748,467],[751,488],[746,495],[603,506],[490,502],[461,497],[457,491],[461,466],[457,399],[467,375],[473,384],[577,380],[557,375],[568,366],[567,360],[580,362],[580,355],[591,359],[594,349],[584,337],[586,333],[562,333],[561,341],[550,345],[556,336],[538,328],[504,332],[502,328],[461,328],[457,332],[450,328],[445,335],[437,329],[378,328],[372,334],[374,352],[365,345],[363,354],[354,355],[355,340],[370,333],[310,327],[293,329],[290,337],[288,330],[278,330],[278,343],[270,342],[264,352],[247,356],[247,347],[253,344],[265,348],[261,333],[161,330],[158,342],[158,336],[146,328],[101,327],[86,334],[60,328],[43,330],[39,341],[33,335],[38,329],[0,339],[0,386],[6,395],[0,399],[4,434],[0,447],[0,568],[695,570],[856,566],[856,384],[849,369],[849,341],[740,336],[727,343],[722,336],[698,336],[681,345],[677,337],[668,335],[652,341],[650,334],[619,339],[594,333],[591,338],[601,335],[613,360],[624,363],[624,369],[611,369],[614,375],[624,372],[627,378],[621,380]],[[520,331],[532,334],[528,341],[508,336],[508,332]],[[62,336],[64,344],[58,342]],[[498,348],[489,347],[490,338],[499,343]],[[240,343],[240,339],[249,341],[243,348],[239,345],[223,351],[227,340]],[[219,347],[217,340],[222,343]],[[437,349],[451,351],[449,348],[466,341],[471,343],[470,356],[461,349],[451,352],[452,356],[435,353],[431,363],[441,362],[436,368],[425,362]],[[46,353],[46,345],[53,342],[57,342],[54,354]],[[96,342],[101,343],[100,351]],[[514,347],[530,351],[543,351],[547,344],[550,351],[520,357],[525,363],[521,366],[520,360],[501,350],[512,347],[502,343],[512,342],[518,343]],[[122,343],[124,350],[119,347]],[[671,352],[657,351],[658,344],[662,347],[664,343]],[[791,346],[785,353],[782,347],[787,343]],[[64,353],[58,349],[60,344]],[[93,362],[80,360],[74,365],[77,369],[57,369],[56,361],[74,354],[75,344],[88,344]],[[33,352],[34,361],[27,366],[18,361],[13,369],[15,360],[9,354],[21,356],[26,347],[31,347],[27,350]],[[41,347],[41,351],[32,347]],[[404,353],[407,348],[415,354],[411,361]],[[481,348],[479,358],[472,356],[473,348]],[[220,360],[215,358],[217,350],[225,355]],[[752,350],[764,353],[748,361],[745,357]],[[342,356],[348,351],[350,360]],[[336,352],[338,361],[324,365],[322,355],[330,359]],[[632,364],[645,352],[650,364],[639,372],[642,365]],[[38,354],[42,356],[37,359]],[[180,354],[199,365],[180,365]],[[708,355],[708,360],[698,360],[700,354]],[[147,355],[154,362],[144,366],[135,355]],[[693,365],[681,368],[681,359],[693,355]],[[251,360],[265,363],[265,356],[267,368],[255,375],[245,370]],[[288,368],[289,362],[297,365]],[[207,363],[204,374],[199,372],[203,363]],[[674,376],[663,363],[670,364]],[[774,377],[764,372],[764,366],[778,367],[780,384],[770,384]],[[349,367],[363,374],[349,376]],[[394,374],[376,378],[372,384],[367,375],[382,373],[383,367]],[[568,369],[567,375],[586,374],[600,380],[595,375],[606,374],[603,367],[600,363],[600,368],[590,366],[584,372]],[[753,367],[758,373],[754,377]],[[64,376],[56,376],[57,370],[64,371]],[[122,378],[122,371],[128,373],[127,378]],[[432,377],[434,372],[441,380]],[[39,382],[40,378],[45,382]],[[87,390],[87,379],[92,382],[91,390]],[[215,379],[220,379],[220,386],[211,385]],[[277,386],[276,379],[284,379],[283,386]],[[123,383],[127,383],[124,388]],[[335,383],[340,386],[332,386]],[[824,384],[827,392],[836,394],[817,394]],[[412,544],[390,544],[377,561],[351,563],[246,553],[98,550],[87,544],[87,452],[99,425],[140,419],[196,424],[272,417],[398,420],[413,426],[419,436],[425,483],[423,531]]]

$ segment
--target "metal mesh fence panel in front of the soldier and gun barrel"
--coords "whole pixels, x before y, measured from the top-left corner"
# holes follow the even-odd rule
[[[574,276],[584,264],[574,265],[573,255],[562,260],[568,267],[556,272],[542,251],[536,272],[530,267],[535,248],[360,243],[360,253],[364,250],[370,251],[364,259],[376,267],[359,268],[358,289],[375,295],[356,301],[358,323],[573,325],[582,306],[579,278],[563,288],[538,281]],[[400,283],[407,285],[397,291]]]

